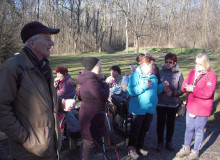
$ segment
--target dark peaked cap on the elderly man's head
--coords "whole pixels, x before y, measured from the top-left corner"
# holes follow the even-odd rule
[[[39,33],[57,34],[59,32],[60,29],[48,28],[47,26],[43,25],[38,21],[33,21],[27,23],[21,30],[21,39],[23,40],[23,43],[25,43],[29,38],[31,38],[35,34],[39,34]]]

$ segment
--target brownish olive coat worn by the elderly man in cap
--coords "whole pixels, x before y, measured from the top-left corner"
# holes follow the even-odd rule
[[[24,52],[24,51],[23,51]],[[53,159],[61,147],[58,99],[44,77],[34,71],[29,58],[17,92],[17,62],[8,59],[0,69],[0,130],[9,138],[11,155],[17,160]]]

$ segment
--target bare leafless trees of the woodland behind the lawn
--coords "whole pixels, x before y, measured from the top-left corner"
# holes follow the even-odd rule
[[[220,46],[219,0],[1,0],[0,62],[35,20],[61,29],[54,54]]]

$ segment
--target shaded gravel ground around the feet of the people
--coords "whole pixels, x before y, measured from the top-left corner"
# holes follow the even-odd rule
[[[141,157],[140,160],[187,160],[187,158],[177,158],[175,157],[176,153],[182,147],[184,140],[184,131],[185,131],[185,117],[177,117],[175,132],[173,136],[173,146],[175,151],[170,152],[167,150],[162,150],[161,152],[156,152],[155,147],[157,144],[156,138],[156,115],[151,124],[151,129],[145,138],[145,145],[149,151],[147,157]],[[127,156],[127,146],[126,138],[115,131],[115,137],[117,142],[117,150],[119,153],[120,160],[130,160],[130,157]],[[206,128],[204,142],[200,150],[199,160],[220,160],[220,130],[217,128]],[[0,137],[2,135],[0,134]],[[0,138],[0,160],[10,160],[10,155],[8,152],[8,143],[7,139]],[[61,152],[61,160],[77,160],[79,159],[79,145],[80,140],[77,142],[78,149],[76,151],[68,151],[68,142],[67,140],[63,143],[63,150]],[[193,144],[193,142],[192,142]],[[117,159],[115,152],[112,152],[113,159]],[[109,157],[110,154],[109,154]],[[91,160],[103,160],[102,152],[96,147],[90,157]]]

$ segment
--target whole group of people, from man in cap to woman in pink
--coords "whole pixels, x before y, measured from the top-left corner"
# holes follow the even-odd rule
[[[59,31],[37,21],[23,27],[21,39],[24,48],[20,55],[24,58],[25,68],[19,88],[19,62],[16,58],[9,58],[1,66],[0,130],[8,136],[10,153],[15,160],[59,159],[62,138],[58,112],[74,109],[75,101],[72,100],[67,107],[66,99],[74,99],[76,95],[76,81],[70,77],[68,69],[57,68],[57,78],[54,80],[47,60],[54,46],[51,35]],[[165,125],[165,148],[174,150],[172,136],[176,111],[179,97],[186,93],[184,145],[176,156],[198,159],[217,83],[208,56],[204,53],[197,54],[195,67],[185,79],[179,71],[177,56],[173,53],[165,55],[161,70],[155,65],[155,59],[150,53],[139,54],[136,61],[137,67],[126,75],[128,81],[123,87],[123,91],[129,95],[128,112],[132,115],[128,154],[133,159],[138,159],[140,154],[147,156],[144,139],[156,111],[156,150],[159,152],[164,147]],[[86,57],[82,65],[84,70],[77,76],[82,99],[79,110],[80,133],[83,139],[80,159],[87,160],[95,142],[106,132],[105,107],[109,90],[124,83],[118,66],[110,68],[111,76],[105,80],[98,58]],[[62,92],[67,86],[66,90],[69,92]],[[194,134],[194,148],[190,149]]]

